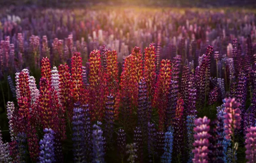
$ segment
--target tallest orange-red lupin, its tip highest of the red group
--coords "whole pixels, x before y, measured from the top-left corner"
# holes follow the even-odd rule
[[[150,44],[145,48],[144,78],[146,82],[149,101],[152,99],[153,87],[155,85],[155,47]]]

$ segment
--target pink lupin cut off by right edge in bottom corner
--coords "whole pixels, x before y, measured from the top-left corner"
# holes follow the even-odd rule
[[[247,163],[256,162],[256,127],[250,127],[247,129],[246,140],[245,140],[245,154]]]

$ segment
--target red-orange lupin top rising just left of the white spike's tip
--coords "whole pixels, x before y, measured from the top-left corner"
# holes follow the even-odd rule
[[[52,84],[51,64],[49,58],[47,57],[43,57],[41,60],[41,76],[42,78],[46,78],[50,85]]]

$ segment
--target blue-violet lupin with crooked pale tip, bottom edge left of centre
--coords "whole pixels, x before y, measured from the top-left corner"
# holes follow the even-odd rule
[[[104,144],[105,139],[102,136],[103,132],[101,130],[101,122],[93,125],[92,131],[92,163],[104,163]]]

